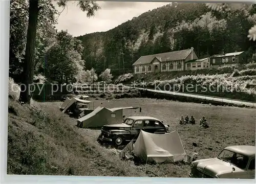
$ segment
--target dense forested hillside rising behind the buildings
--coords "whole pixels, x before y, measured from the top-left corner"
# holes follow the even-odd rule
[[[255,24],[255,5],[222,13],[212,11],[205,4],[172,3],[107,32],[77,38],[84,47],[82,59],[87,70],[93,67],[100,73],[111,68],[112,74],[119,75],[132,72],[132,64],[142,55],[190,47],[200,57],[234,51],[246,51],[251,57],[256,44],[247,35]]]

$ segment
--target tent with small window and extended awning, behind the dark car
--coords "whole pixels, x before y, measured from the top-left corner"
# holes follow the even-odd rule
[[[103,125],[113,125],[122,123],[123,109],[136,109],[139,107],[118,107],[106,108],[97,107],[94,111],[77,120],[77,126],[81,128],[96,128]]]

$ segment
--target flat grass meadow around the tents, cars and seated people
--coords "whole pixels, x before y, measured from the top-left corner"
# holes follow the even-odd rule
[[[56,113],[62,102],[40,103],[46,110],[56,109]],[[119,99],[119,100],[94,100],[94,107],[104,106],[114,108],[119,106],[140,106],[142,112],[135,109],[124,110],[127,116],[154,116],[164,124],[170,125],[170,130],[178,130],[184,149],[187,154],[198,153],[198,158],[216,157],[226,146],[231,145],[255,145],[255,111],[250,108],[211,106],[207,104],[182,103],[156,99]],[[181,115],[193,115],[196,125],[179,125]],[[199,128],[199,119],[205,116],[210,128]],[[76,125],[75,121],[66,122]],[[96,142],[100,130],[77,128],[84,139]],[[247,133],[244,133],[247,132]],[[120,150],[103,148],[109,157],[118,157]],[[111,159],[111,158],[110,158]],[[131,162],[131,161],[128,161]],[[145,172],[147,176],[157,177],[188,177],[189,165],[183,164],[157,164],[135,166],[131,162],[130,167]]]

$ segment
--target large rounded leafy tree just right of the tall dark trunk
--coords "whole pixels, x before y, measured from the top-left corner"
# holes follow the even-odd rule
[[[81,59],[83,47],[67,31],[60,31],[56,35],[56,42],[47,51],[45,69],[49,78],[63,82],[63,78],[72,80],[79,78],[84,61]]]

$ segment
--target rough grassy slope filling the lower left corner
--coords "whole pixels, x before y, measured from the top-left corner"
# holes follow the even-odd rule
[[[8,108],[8,174],[145,176],[80,134],[57,106],[9,99]]]

